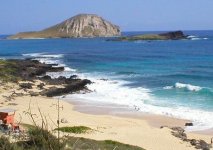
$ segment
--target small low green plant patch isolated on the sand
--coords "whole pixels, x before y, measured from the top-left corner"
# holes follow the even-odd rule
[[[67,133],[75,133],[75,134],[82,134],[87,133],[89,131],[92,131],[91,128],[85,127],[85,126],[74,126],[74,127],[61,127],[56,128],[55,130],[59,130],[61,132],[67,132]]]

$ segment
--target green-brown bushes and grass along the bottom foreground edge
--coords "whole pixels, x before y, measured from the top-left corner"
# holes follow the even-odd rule
[[[11,143],[8,138],[0,137],[2,150],[144,150],[143,148],[122,144],[116,141],[96,141],[78,137],[62,137],[58,141],[51,132],[38,127],[29,129],[28,139]]]

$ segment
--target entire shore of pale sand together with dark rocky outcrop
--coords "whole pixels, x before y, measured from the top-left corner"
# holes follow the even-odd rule
[[[46,75],[48,71],[64,71],[64,67],[55,66],[36,60],[1,62],[4,74],[0,82],[0,108],[16,110],[15,123],[21,128],[22,124],[40,126],[54,134],[59,119],[60,127],[86,126],[92,129],[92,132],[83,134],[61,132],[60,136],[113,140],[149,150],[209,147],[210,135],[184,131],[183,126],[188,120],[142,114],[135,111],[137,107],[130,110],[124,105],[101,103],[101,106],[97,106],[96,102],[91,105],[85,101],[80,104],[78,99],[73,98],[73,103],[60,99],[70,93],[87,92],[86,85],[92,82],[76,79],[74,75],[69,78]],[[7,68],[13,69],[13,72]]]

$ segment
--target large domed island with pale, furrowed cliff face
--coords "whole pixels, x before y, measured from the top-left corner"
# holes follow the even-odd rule
[[[18,33],[9,39],[113,37],[120,34],[120,28],[109,21],[97,15],[80,14],[42,31]]]

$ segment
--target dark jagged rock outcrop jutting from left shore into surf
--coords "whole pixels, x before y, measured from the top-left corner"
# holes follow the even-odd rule
[[[64,67],[32,59],[0,60],[0,71],[2,82],[15,82],[21,89],[28,90],[31,96],[62,96],[87,90],[86,85],[92,83],[87,79],[78,79],[76,75],[69,78],[63,76],[52,78],[46,75],[47,72],[62,72]],[[30,91],[33,86],[37,86],[38,91]]]

